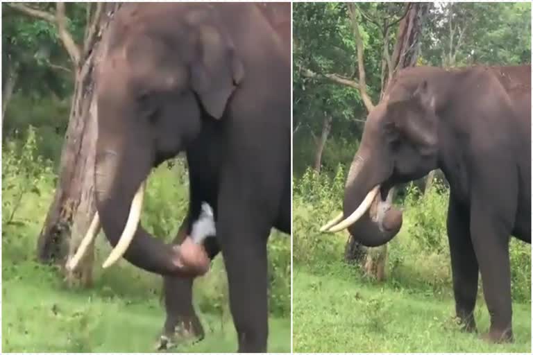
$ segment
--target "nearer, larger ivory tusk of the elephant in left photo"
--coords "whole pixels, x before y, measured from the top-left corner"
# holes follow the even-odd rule
[[[120,236],[119,242],[117,245],[115,245],[115,248],[111,250],[108,259],[104,261],[102,265],[103,268],[108,268],[116,263],[117,260],[119,260],[124,253],[126,253],[131,241],[133,241],[135,232],[137,232],[137,225],[139,224],[139,220],[141,218],[144,187],[145,184],[142,182],[141,186],[139,186],[139,189],[137,190],[137,193],[135,193],[135,196],[133,197],[133,201],[131,202],[130,214],[128,215],[126,227],[124,227],[124,231]]]

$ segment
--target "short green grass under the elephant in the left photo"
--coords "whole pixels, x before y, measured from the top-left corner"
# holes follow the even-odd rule
[[[10,265],[2,287],[3,352],[153,352],[164,320],[156,297],[106,297],[101,289],[72,291],[48,268]],[[16,273],[15,273],[16,272]],[[230,315],[200,314],[206,331],[198,343],[171,352],[235,352]],[[290,351],[290,321],[271,318],[269,351]]]

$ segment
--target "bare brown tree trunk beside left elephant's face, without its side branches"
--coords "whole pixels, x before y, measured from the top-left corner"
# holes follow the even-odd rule
[[[96,211],[94,205],[94,154],[96,151],[96,100],[93,73],[105,49],[105,29],[110,24],[117,3],[106,3],[98,22],[92,50],[76,69],[76,81],[69,116],[69,126],[61,153],[58,186],[37,241],[37,258],[43,263],[56,263],[63,268],[87,231]],[[69,282],[92,284],[94,250]],[[65,271],[66,272],[66,271]]]

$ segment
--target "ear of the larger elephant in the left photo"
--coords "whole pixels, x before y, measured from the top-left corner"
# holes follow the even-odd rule
[[[205,111],[220,119],[228,98],[243,77],[243,64],[230,40],[212,26],[201,26],[198,55],[191,64],[191,80]]]

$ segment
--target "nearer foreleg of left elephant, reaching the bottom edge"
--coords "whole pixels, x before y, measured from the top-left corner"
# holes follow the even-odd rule
[[[239,191],[235,189],[234,191]],[[266,352],[268,217],[231,192],[219,198],[217,237],[226,265],[239,352]]]

